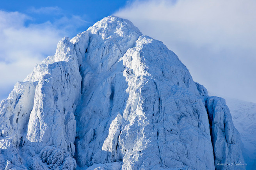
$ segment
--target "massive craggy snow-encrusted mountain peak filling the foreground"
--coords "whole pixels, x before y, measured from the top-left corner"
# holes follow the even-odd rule
[[[221,98],[176,54],[110,16],[18,82],[0,105],[1,169],[243,169]]]

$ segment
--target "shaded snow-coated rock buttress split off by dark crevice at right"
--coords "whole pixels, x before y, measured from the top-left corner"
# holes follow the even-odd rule
[[[233,125],[231,114],[223,98],[209,97],[206,101],[210,130],[212,135],[215,165],[225,163],[242,163],[242,142],[240,135]],[[235,169],[243,169],[236,166]],[[223,169],[216,166],[216,169]],[[224,169],[233,169],[227,166]]]

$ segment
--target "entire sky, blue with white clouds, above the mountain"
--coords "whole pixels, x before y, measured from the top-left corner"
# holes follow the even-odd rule
[[[5,0],[0,5],[0,100],[36,63],[116,15],[158,39],[212,94],[256,103],[255,0]]]

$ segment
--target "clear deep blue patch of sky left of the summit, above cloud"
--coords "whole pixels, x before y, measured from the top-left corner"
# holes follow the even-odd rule
[[[27,14],[30,18],[25,22],[25,26],[45,22],[55,23],[61,18],[77,16],[84,22],[74,26],[75,30],[69,30],[70,34],[75,35],[130,2],[126,0],[8,0],[1,1],[0,10]]]

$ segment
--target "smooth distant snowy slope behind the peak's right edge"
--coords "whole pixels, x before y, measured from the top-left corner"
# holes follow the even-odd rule
[[[247,170],[256,167],[256,103],[227,98],[233,122],[244,144],[242,150]]]

